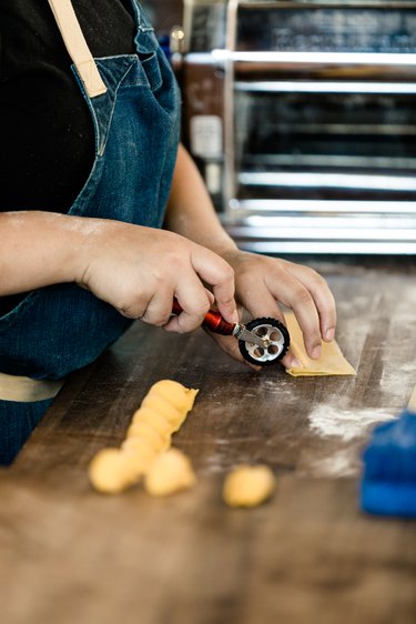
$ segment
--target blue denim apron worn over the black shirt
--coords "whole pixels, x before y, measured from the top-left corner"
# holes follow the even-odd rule
[[[161,228],[179,142],[179,89],[139,0],[132,6],[136,54],[94,59],[105,92],[91,97],[72,66],[91,112],[95,158],[69,214]],[[32,291],[0,318],[0,374],[61,380],[131,323],[75,284]],[[13,460],[52,400],[0,395],[0,464]]]

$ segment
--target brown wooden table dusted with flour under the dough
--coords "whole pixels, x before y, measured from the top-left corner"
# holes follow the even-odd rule
[[[416,523],[363,514],[358,484],[372,426],[416,383],[416,270],[364,262],[317,264],[356,378],[255,374],[203,331],[141,323],[75,373],[0,471],[1,624],[414,624]],[[174,439],[197,485],[95,493],[89,461],[165,378],[200,389]],[[222,503],[240,462],[274,469],[270,503]]]

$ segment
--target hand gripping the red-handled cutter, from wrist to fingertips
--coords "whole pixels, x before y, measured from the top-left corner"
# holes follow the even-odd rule
[[[215,299],[224,319],[237,322],[233,270],[217,254],[164,230],[89,221],[77,281],[121,314],[184,333],[202,324]]]

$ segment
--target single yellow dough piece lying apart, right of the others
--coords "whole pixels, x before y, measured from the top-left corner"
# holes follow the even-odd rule
[[[240,465],[224,481],[223,499],[232,507],[254,507],[268,499],[276,480],[268,466]]]

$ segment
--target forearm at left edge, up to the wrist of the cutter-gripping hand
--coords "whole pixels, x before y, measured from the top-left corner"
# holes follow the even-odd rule
[[[0,296],[77,281],[84,229],[75,217],[0,213]]]

